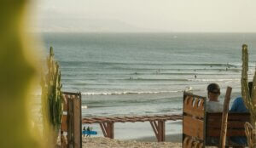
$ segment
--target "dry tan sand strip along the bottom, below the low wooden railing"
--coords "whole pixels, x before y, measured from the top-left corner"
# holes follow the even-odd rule
[[[142,139],[141,139],[142,140]],[[169,148],[169,147],[182,147],[181,143],[175,142],[142,142],[137,140],[119,140],[119,139],[108,139],[108,138],[83,138],[83,148]]]

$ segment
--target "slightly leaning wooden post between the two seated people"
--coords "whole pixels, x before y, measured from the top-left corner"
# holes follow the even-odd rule
[[[219,140],[219,147],[224,148],[226,143],[226,134],[227,134],[227,124],[228,124],[228,113],[229,113],[229,105],[230,105],[230,94],[232,92],[232,88],[228,87],[225,100],[224,100],[224,109],[222,114],[222,123],[221,123],[221,133],[220,133],[220,140]]]

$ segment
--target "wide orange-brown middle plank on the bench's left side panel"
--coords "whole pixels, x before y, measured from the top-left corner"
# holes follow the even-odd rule
[[[183,117],[183,134],[203,139],[203,121],[194,117]]]

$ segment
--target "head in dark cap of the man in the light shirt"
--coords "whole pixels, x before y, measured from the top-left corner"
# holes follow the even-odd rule
[[[220,88],[217,83],[210,83],[207,86],[208,99],[211,101],[218,101],[218,96],[220,94]]]

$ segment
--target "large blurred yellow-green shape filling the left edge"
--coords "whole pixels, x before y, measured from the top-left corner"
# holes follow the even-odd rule
[[[30,94],[39,66],[34,43],[26,35],[27,0],[2,0],[0,4],[0,147],[46,146],[37,125],[32,126]]]

